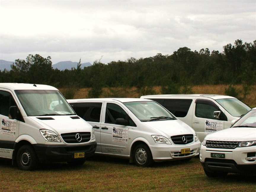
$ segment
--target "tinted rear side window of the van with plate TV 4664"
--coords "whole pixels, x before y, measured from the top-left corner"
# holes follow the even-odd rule
[[[100,122],[102,103],[70,103],[76,114],[85,121]]]

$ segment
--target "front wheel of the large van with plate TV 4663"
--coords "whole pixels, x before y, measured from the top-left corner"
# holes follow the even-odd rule
[[[23,145],[17,152],[17,166],[21,170],[33,170],[38,166],[36,152],[31,145]]]

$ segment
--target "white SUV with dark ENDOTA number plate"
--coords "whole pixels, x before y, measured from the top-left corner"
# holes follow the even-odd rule
[[[227,173],[256,175],[256,108],[231,128],[207,135],[200,161],[208,177]]]

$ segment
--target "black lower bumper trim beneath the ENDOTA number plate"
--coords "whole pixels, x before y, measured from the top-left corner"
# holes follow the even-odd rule
[[[233,163],[220,162],[201,162],[201,165],[208,172],[226,172],[226,173],[244,173],[254,175],[256,172],[256,164],[238,165]]]

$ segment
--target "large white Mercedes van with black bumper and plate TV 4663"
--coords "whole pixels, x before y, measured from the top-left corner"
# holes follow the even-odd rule
[[[35,169],[39,162],[83,164],[96,145],[92,126],[58,89],[0,83],[0,157],[23,170]]]

